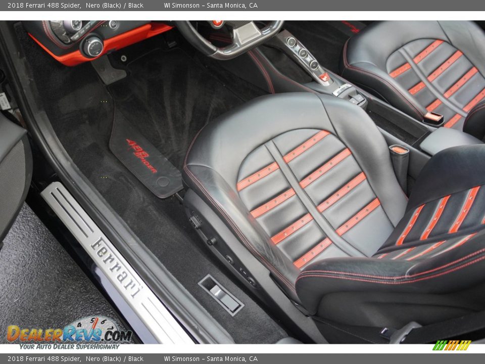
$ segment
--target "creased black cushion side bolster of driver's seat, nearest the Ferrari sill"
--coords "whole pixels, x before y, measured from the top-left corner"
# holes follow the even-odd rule
[[[184,167],[183,178],[185,185],[212,206],[246,248],[271,271],[288,296],[298,300],[294,286],[298,270],[272,246],[269,237],[224,178],[212,168],[193,164]]]

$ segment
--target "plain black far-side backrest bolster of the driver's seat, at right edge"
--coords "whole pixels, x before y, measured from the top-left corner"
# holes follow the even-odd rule
[[[435,154],[419,174],[406,212],[416,207],[485,185],[485,145],[460,146]]]

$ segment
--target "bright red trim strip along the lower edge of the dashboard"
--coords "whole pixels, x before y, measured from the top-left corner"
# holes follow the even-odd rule
[[[118,34],[114,37],[105,39],[103,52],[95,58],[85,57],[79,50],[63,56],[57,56],[52,53],[47,47],[45,47],[45,45],[43,45],[40,41],[38,41],[32,34],[29,33],[29,35],[33,40],[35,40],[37,44],[40,45],[40,47],[42,47],[45,52],[49,53],[57,61],[61,62],[66,66],[76,66],[80,63],[92,61],[96,58],[99,58],[109,51],[122,49],[130,44],[139,42],[144,39],[148,39],[157,34],[164,33],[172,28],[172,26],[163,23],[150,23],[139,26],[138,28],[129,30],[122,34]]]

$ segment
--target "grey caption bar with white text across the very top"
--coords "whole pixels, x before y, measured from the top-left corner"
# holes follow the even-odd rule
[[[116,1],[18,1],[2,2],[0,11],[485,11],[485,2],[477,0],[407,0],[392,2],[389,0],[246,0],[240,1],[175,1],[140,0],[133,2]]]

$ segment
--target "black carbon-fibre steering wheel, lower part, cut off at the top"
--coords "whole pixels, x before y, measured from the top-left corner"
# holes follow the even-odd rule
[[[271,21],[263,29],[259,29],[254,21],[214,20],[209,23],[214,29],[220,29],[224,24],[229,25],[232,28],[232,42],[223,48],[216,47],[204,38],[189,21],[175,21],[178,30],[190,44],[206,56],[217,60],[228,60],[258,47],[267,39],[278,34],[283,26],[282,20]]]

